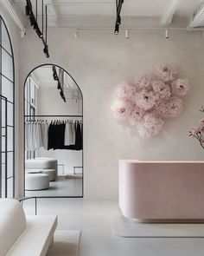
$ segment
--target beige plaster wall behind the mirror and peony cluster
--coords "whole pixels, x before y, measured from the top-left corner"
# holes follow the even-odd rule
[[[201,32],[172,31],[80,31],[80,38],[66,29],[48,30],[50,58],[33,30],[22,39],[20,56],[20,153],[22,170],[22,95],[23,83],[31,69],[42,63],[56,63],[79,84],[84,96],[84,171],[85,198],[118,197],[118,159],[203,160],[204,152],[188,138],[188,128],[202,115],[197,109],[204,102],[204,40]],[[134,75],[151,72],[159,62],[171,62],[191,84],[179,117],[166,121],[163,131],[143,141],[137,133],[112,119],[110,105],[113,89]],[[54,104],[54,102],[53,102]],[[21,177],[22,178],[22,177]]]

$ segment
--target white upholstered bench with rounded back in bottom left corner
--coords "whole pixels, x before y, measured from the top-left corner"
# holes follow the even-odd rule
[[[17,200],[0,200],[0,256],[45,256],[57,226],[55,215],[25,216]]]

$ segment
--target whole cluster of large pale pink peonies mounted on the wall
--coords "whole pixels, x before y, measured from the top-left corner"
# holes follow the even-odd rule
[[[190,88],[187,79],[175,75],[171,65],[161,64],[153,75],[140,75],[133,82],[118,84],[112,115],[129,121],[143,138],[157,135],[163,119],[181,113],[182,97]]]

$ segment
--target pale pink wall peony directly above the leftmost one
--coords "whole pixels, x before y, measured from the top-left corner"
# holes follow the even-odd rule
[[[116,95],[119,100],[131,100],[136,95],[136,88],[127,82],[121,82],[117,86]]]

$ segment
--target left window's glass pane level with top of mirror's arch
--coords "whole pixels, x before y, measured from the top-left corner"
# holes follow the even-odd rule
[[[2,74],[13,81],[13,60],[4,49],[2,50]]]

